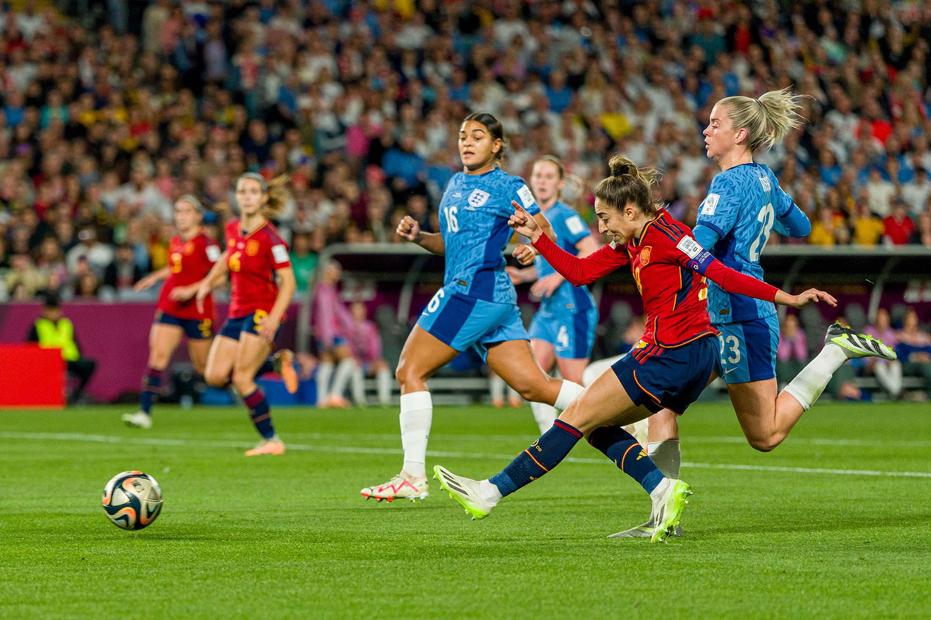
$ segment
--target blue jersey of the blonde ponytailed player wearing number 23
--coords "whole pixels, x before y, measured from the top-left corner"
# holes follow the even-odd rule
[[[735,165],[711,181],[708,196],[698,209],[696,227],[707,226],[721,239],[711,254],[727,267],[762,280],[760,255],[776,224],[795,207],[779,188],[776,175],[762,164]],[[708,283],[711,323],[736,323],[776,314],[772,302],[735,295]]]

